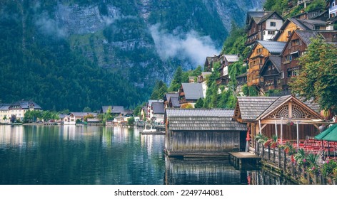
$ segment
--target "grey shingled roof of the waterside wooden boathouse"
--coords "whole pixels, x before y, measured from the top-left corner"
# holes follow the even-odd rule
[[[169,129],[176,131],[246,131],[232,121],[233,109],[166,109]]]

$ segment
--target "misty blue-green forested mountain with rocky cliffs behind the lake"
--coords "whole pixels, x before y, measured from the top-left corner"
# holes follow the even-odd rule
[[[4,0],[0,100],[44,109],[134,107],[178,65],[219,53],[262,0]]]

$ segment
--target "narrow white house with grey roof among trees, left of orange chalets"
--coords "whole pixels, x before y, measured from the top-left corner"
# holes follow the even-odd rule
[[[218,70],[220,71],[220,77],[216,79],[217,85],[228,85],[230,77],[228,76],[228,67],[238,62],[238,55],[223,55],[223,65]]]

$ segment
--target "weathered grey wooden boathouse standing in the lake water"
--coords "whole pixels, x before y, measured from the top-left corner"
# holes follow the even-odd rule
[[[241,151],[246,125],[232,121],[233,109],[166,109],[166,154],[223,156]]]

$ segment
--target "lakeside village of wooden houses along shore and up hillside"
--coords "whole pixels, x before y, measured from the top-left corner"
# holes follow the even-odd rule
[[[311,1],[298,1],[310,4]],[[172,158],[230,158],[241,168],[263,164],[303,184],[336,184],[337,117],[317,102],[292,95],[288,82],[301,72],[298,58],[306,54],[312,38],[337,45],[336,1],[326,10],[303,12],[284,19],[275,11],[249,11],[246,18],[246,72],[231,77],[229,70],[241,55],[206,58],[203,72],[189,77],[176,92],[149,99],[139,113],[123,106],[104,105],[94,112],[69,112],[56,118],[30,118],[24,125],[96,125],[142,127],[164,131],[165,154]],[[206,97],[207,81],[217,68],[216,85],[231,90],[238,82],[236,104],[229,108],[196,108]],[[245,96],[243,85],[258,96]],[[278,90],[278,95],[266,95]],[[42,111],[36,102],[0,104],[0,124],[22,124],[27,112]],[[14,119],[15,118],[15,119]],[[19,122],[18,122],[19,121]]]

